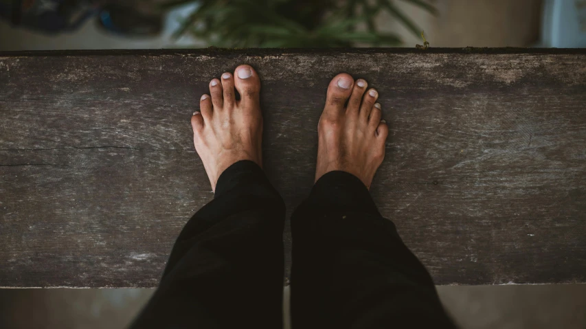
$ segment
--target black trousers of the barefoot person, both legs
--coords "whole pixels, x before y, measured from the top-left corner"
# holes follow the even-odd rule
[[[234,163],[131,328],[282,328],[284,217],[262,169]],[[291,229],[293,329],[453,328],[429,273],[354,175],[320,178]]]

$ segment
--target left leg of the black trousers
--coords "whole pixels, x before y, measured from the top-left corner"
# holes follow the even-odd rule
[[[284,216],[256,163],[227,168],[131,328],[282,328]]]

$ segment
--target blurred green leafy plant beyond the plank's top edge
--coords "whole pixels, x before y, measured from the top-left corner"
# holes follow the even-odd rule
[[[437,14],[427,1],[402,1]],[[383,11],[414,34],[421,32],[394,0],[179,0],[163,7],[194,2],[199,8],[181,22],[175,36],[192,34],[216,47],[400,45],[396,34],[376,28],[374,18]]]

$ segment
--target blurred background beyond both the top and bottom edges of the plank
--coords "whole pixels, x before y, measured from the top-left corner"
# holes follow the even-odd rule
[[[0,51],[416,47],[423,30],[429,47],[586,47],[586,0],[0,0]],[[462,328],[586,328],[586,284],[438,292]],[[152,293],[0,289],[0,328],[124,328]]]

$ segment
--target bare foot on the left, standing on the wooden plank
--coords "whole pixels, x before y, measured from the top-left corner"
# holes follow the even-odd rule
[[[234,87],[240,93],[236,100]],[[212,190],[220,174],[240,160],[262,167],[262,115],[260,79],[249,65],[236,67],[210,81],[210,95],[202,95],[200,110],[193,113],[193,144],[210,178]]]

